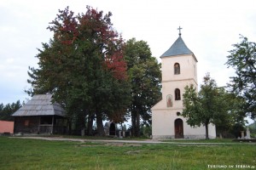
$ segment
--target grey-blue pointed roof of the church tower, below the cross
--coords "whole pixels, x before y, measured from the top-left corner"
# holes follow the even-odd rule
[[[169,48],[166,51],[166,53],[162,54],[160,58],[183,54],[193,54],[193,52],[186,46],[185,42],[183,42],[181,34],[179,34],[179,37],[177,38],[176,42],[174,42],[172,44],[172,47]]]

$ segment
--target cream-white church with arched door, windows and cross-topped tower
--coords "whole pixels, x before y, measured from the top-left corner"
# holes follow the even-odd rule
[[[181,37],[160,56],[162,65],[162,99],[152,108],[153,139],[205,139],[206,127],[190,127],[183,111],[183,93],[187,85],[197,83],[197,59]],[[209,138],[216,138],[215,126],[208,126]]]

